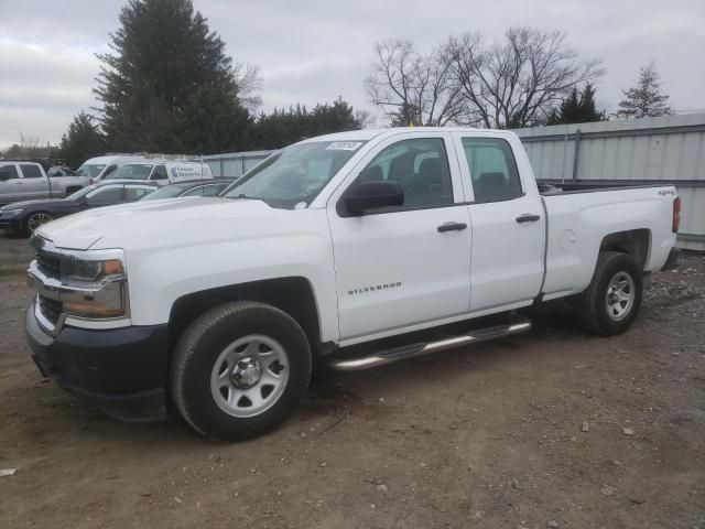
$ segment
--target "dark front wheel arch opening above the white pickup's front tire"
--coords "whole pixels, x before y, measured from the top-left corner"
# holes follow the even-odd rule
[[[169,316],[170,349],[204,312],[230,301],[259,301],[292,316],[303,328],[314,355],[321,348],[321,317],[313,285],[304,277],[264,279],[192,292],[178,298]]]

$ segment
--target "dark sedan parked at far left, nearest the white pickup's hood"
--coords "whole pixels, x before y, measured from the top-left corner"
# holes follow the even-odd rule
[[[55,218],[94,207],[137,202],[154,190],[155,184],[110,182],[89,185],[66,198],[15,202],[0,207],[0,229],[31,235]]]

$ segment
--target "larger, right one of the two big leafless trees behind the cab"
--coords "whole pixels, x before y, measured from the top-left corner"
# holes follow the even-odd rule
[[[543,122],[577,85],[604,74],[598,60],[581,60],[560,31],[510,28],[486,46],[479,33],[451,36],[445,55],[467,101],[466,122],[519,128]]]

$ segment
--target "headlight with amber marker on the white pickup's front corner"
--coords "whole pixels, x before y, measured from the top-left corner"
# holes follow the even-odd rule
[[[90,319],[126,316],[128,312],[127,274],[122,250],[98,250],[85,256],[62,255],[64,312]]]

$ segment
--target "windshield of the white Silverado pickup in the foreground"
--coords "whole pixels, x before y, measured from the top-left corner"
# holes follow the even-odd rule
[[[364,141],[300,143],[275,152],[221,195],[258,198],[272,207],[307,206]]]

